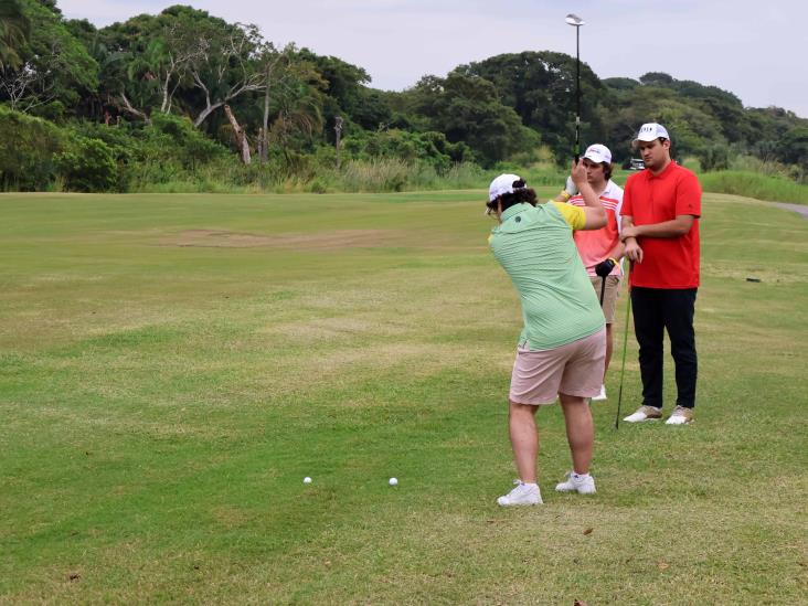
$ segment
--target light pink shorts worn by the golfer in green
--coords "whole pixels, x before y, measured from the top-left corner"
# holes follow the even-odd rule
[[[559,348],[517,348],[508,394],[517,404],[552,404],[560,393],[594,397],[600,393],[606,329]]]

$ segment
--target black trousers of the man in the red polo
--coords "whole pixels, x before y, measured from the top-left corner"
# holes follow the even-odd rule
[[[631,288],[645,405],[662,407],[662,339],[668,330],[677,372],[677,406],[695,406],[695,293],[697,288]]]

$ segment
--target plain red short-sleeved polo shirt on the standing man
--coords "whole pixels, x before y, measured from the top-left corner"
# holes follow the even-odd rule
[[[699,286],[701,185],[695,174],[671,161],[659,174],[646,169],[630,176],[623,194],[623,214],[631,216],[635,225],[662,223],[680,214],[693,215],[693,226],[682,236],[637,238],[642,248],[642,263],[634,264],[631,286]]]

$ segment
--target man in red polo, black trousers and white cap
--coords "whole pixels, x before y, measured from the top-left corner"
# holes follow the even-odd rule
[[[670,157],[661,125],[640,127],[634,146],[646,169],[626,181],[623,230],[630,273],[634,327],[639,343],[642,405],[625,421],[662,417],[662,339],[667,330],[676,364],[677,406],[666,422],[693,418],[698,360],[693,312],[699,288],[701,185]]]

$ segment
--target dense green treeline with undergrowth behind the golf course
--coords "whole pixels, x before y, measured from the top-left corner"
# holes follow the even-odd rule
[[[602,81],[584,64],[581,75],[582,139],[619,162],[638,125],[658,120],[702,170],[743,161],[806,180],[808,120],[790,111],[663,73]],[[574,89],[562,53],[498,55],[394,93],[191,7],[96,29],[54,0],[0,0],[0,188],[400,189],[414,173],[565,163]]]

